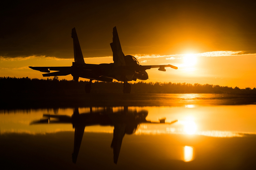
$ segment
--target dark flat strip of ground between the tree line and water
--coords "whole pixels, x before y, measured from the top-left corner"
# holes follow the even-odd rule
[[[0,98],[0,109],[255,104],[255,94],[18,94]]]

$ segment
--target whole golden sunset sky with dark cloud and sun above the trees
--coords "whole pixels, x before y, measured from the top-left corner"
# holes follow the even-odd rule
[[[255,9],[256,2],[234,0],[5,2],[0,77],[41,79],[41,72],[28,66],[71,66],[73,27],[85,63],[111,63],[109,43],[116,26],[125,55],[141,65],[179,67],[150,69],[147,82],[254,88]]]

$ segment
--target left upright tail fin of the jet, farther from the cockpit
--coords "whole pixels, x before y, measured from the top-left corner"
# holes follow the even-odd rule
[[[83,53],[82,53],[82,50],[78,41],[78,37],[76,34],[76,28],[72,29],[71,37],[73,39],[73,45],[74,45],[75,62],[79,64],[84,64],[84,57],[83,57]]]

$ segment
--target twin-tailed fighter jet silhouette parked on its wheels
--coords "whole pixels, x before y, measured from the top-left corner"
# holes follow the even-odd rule
[[[124,93],[131,92],[131,84],[128,81],[147,80],[147,69],[158,68],[160,71],[166,71],[165,67],[171,67],[178,69],[178,67],[172,65],[151,65],[142,66],[139,61],[132,55],[124,55],[116,27],[113,28],[113,42],[110,43],[113,52],[114,63],[102,63],[102,64],[86,64],[84,62],[83,53],[76,34],[76,28],[72,29],[71,37],[73,38],[74,45],[74,59],[72,66],[70,67],[29,67],[33,70],[45,72],[44,77],[49,76],[64,76],[71,74],[74,81],[78,81],[79,77],[90,79],[89,83],[85,85],[85,92],[90,93],[92,89],[92,81],[108,81],[113,79],[124,82]],[[50,71],[56,71],[50,73]]]

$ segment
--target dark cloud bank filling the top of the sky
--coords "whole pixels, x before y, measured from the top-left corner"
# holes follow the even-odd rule
[[[255,7],[251,1],[203,0],[5,2],[0,56],[73,58],[73,27],[84,57],[111,56],[114,26],[125,54],[254,53]]]

